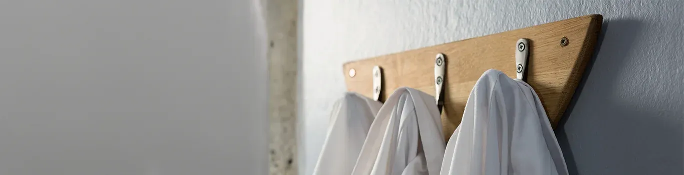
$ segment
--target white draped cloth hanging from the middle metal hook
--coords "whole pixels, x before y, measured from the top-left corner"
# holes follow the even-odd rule
[[[444,149],[434,97],[401,87],[373,120],[352,174],[438,174]]]

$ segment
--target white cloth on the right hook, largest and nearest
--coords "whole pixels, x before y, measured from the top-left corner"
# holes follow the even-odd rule
[[[440,174],[568,174],[568,168],[534,90],[490,69],[473,87]]]

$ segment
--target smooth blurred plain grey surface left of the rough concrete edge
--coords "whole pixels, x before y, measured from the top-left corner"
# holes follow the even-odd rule
[[[267,174],[257,6],[0,1],[0,174]]]

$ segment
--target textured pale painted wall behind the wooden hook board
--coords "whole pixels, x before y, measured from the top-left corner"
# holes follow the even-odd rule
[[[571,174],[683,174],[684,1],[304,0],[302,173],[311,174],[345,62],[603,14],[556,130]]]

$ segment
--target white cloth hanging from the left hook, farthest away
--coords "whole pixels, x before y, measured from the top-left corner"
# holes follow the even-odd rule
[[[382,103],[354,92],[347,92],[337,100],[313,174],[352,174],[358,152],[380,107]]]

